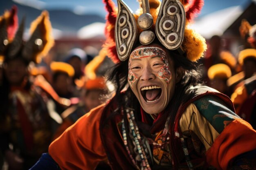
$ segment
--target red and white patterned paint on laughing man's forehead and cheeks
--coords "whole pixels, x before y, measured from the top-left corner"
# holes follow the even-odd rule
[[[158,47],[144,47],[137,49],[133,51],[130,55],[130,61],[129,61],[129,72],[128,72],[128,82],[132,86],[132,84],[137,80],[136,75],[130,70],[130,63],[134,59],[140,59],[140,58],[145,58],[145,57],[154,57],[154,56],[159,56],[164,62],[164,65],[160,69],[160,71],[157,73],[157,77],[159,79],[164,79],[166,83],[168,84],[171,80],[171,71],[168,67],[168,60],[166,53],[158,48]]]

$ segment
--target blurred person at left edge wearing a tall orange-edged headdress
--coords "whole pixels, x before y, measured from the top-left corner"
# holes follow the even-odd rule
[[[29,63],[39,63],[54,44],[49,14],[31,23],[27,42],[18,27],[17,7],[0,17],[0,55],[4,57],[0,88],[0,147],[9,170],[27,170],[47,151],[52,137],[51,117],[43,93],[29,80]],[[18,31],[17,31],[18,29]]]

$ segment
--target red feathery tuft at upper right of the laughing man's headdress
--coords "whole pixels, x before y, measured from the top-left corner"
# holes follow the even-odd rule
[[[186,19],[191,22],[197,14],[200,13],[204,6],[204,0],[193,0],[188,11],[186,12]]]

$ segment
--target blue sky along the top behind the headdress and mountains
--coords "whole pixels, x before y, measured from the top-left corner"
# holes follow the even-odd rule
[[[39,0],[42,3],[38,3],[38,0],[14,0],[16,2],[42,4],[46,9],[76,9],[77,13],[98,13],[105,15],[104,6],[102,0]],[[138,2],[136,0],[124,0],[126,4],[133,10],[136,11],[138,8]],[[116,0],[114,0],[116,3]],[[201,15],[212,13],[220,9],[227,7],[245,5],[250,0],[205,0],[204,7]]]

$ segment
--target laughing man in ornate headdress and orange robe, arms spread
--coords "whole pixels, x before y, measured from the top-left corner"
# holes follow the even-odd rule
[[[200,84],[195,62],[205,40],[185,26],[203,1],[142,0],[137,15],[122,0],[118,13],[104,2],[116,94],[68,128],[32,169],[93,170],[106,159],[115,170],[255,168],[256,131],[227,96]]]

